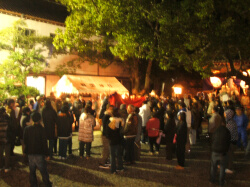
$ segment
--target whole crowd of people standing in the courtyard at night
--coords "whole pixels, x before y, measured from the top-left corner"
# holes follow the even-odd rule
[[[211,151],[210,182],[219,183],[233,174],[234,151],[249,156],[248,117],[245,106],[234,94],[223,101],[219,95],[145,97],[142,106],[115,104],[109,96],[84,99],[82,96],[55,98],[38,96],[34,100],[20,96],[7,99],[0,108],[0,169],[11,172],[15,146],[22,146],[23,162],[30,168],[30,183],[37,184],[36,168],[43,182],[51,186],[46,160],[58,155],[65,160],[72,154],[72,132],[78,132],[79,156],[91,159],[94,130],[101,126],[102,157],[99,168],[112,174],[124,171],[140,157],[140,145],[148,144],[148,154],[158,155],[165,146],[167,160],[177,158],[175,169],[184,170],[185,154],[200,138],[202,123],[208,122],[207,139]],[[74,125],[72,125],[74,124]],[[203,132],[204,133],[204,132]],[[164,144],[164,145],[161,145]],[[59,146],[58,146],[59,145]],[[86,153],[86,154],[85,154]],[[5,156],[4,156],[5,154]],[[237,171],[236,171],[237,172]]]

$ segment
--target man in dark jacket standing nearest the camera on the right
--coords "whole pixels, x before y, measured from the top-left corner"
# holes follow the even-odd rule
[[[210,182],[215,183],[215,175],[217,172],[217,165],[220,163],[220,185],[225,183],[225,169],[227,165],[227,152],[230,146],[231,135],[230,131],[224,126],[220,125],[214,132],[212,137],[212,157],[211,157],[211,171]]]

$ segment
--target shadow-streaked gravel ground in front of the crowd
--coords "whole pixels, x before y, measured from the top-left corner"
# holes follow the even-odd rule
[[[175,170],[176,158],[165,159],[165,146],[161,145],[160,154],[148,154],[149,146],[142,144],[141,159],[135,165],[125,166],[125,171],[113,175],[107,169],[99,169],[101,158],[101,133],[95,132],[95,141],[91,149],[91,158],[80,159],[78,156],[77,133],[73,136],[73,156],[65,161],[55,156],[48,161],[48,172],[53,186],[214,186],[209,184],[210,152],[208,141],[203,135],[196,145],[191,146],[186,154],[186,167],[183,171]],[[0,186],[29,186],[29,168],[22,163],[21,148],[15,149],[17,156],[12,157],[12,170],[0,172]],[[234,174],[226,175],[226,186],[250,186],[250,160],[244,159],[244,152],[235,152]],[[42,178],[37,172],[39,185]],[[216,186],[216,185],[215,185]]]

